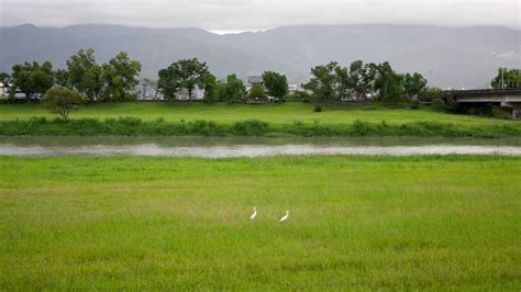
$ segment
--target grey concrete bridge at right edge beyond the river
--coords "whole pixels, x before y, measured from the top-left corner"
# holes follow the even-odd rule
[[[512,117],[521,119],[521,89],[446,90],[445,100],[457,103],[492,103],[512,109]]]

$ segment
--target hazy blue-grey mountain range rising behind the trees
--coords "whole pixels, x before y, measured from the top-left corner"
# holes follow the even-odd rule
[[[0,27],[0,70],[32,59],[63,67],[71,54],[88,47],[98,61],[129,52],[141,60],[142,76],[152,78],[159,68],[189,57],[207,61],[220,78],[278,70],[295,83],[307,80],[312,66],[329,60],[388,60],[396,70],[420,71],[431,86],[443,88],[484,88],[499,66],[521,67],[521,31],[499,26],[299,25],[217,35],[190,27],[24,24]]]

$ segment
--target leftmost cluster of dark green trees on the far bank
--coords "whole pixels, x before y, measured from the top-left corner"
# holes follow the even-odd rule
[[[12,66],[12,74],[2,74],[10,85],[10,94],[23,92],[27,102],[53,86],[77,91],[89,101],[123,101],[132,99],[131,91],[140,82],[141,63],[121,52],[108,63],[98,64],[95,50],[80,49],[66,61],[65,69],[53,70],[48,60],[25,61]]]

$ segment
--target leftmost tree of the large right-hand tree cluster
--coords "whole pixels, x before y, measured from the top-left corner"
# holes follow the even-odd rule
[[[335,72],[336,67],[337,63],[330,61],[326,65],[312,68],[311,79],[302,87],[307,90],[311,90],[312,97],[315,100],[334,100],[336,93],[335,86],[337,81]]]

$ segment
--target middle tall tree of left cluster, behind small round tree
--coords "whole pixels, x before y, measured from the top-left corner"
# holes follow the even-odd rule
[[[79,49],[67,60],[67,75],[71,88],[93,101],[103,89],[102,68],[96,63],[92,48]],[[63,82],[62,82],[63,83]]]

